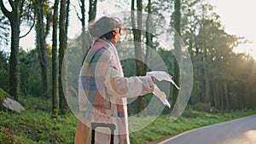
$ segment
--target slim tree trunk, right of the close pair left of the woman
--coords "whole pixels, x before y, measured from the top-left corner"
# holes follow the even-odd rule
[[[60,48],[59,48],[59,96],[60,96],[60,111],[61,113],[67,112],[67,101],[65,99],[64,90],[67,90],[67,67],[64,61],[65,51],[67,49],[67,32],[66,32],[66,9],[67,0],[61,0],[61,11],[60,11]],[[65,37],[63,37],[65,36]],[[64,64],[64,65],[62,65]]]

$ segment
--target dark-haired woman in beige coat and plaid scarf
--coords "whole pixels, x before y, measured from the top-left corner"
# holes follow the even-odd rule
[[[115,124],[114,143],[129,144],[126,98],[152,93],[154,77],[125,78],[113,44],[119,41],[123,24],[102,17],[89,27],[94,38],[84,57],[79,76],[79,122],[75,143],[91,142],[91,124]],[[96,143],[110,142],[110,130],[97,128]]]

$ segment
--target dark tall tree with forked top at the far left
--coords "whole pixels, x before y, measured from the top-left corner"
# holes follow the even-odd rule
[[[9,11],[3,4],[3,0],[0,0],[0,7],[3,14],[9,19],[11,27],[11,54],[9,59],[9,94],[15,97],[16,101],[19,101],[20,90],[20,74],[19,74],[19,46],[20,46],[20,23],[22,17],[24,20],[27,18],[31,20],[30,15],[31,2],[25,0],[8,1],[11,7]],[[27,6],[27,7],[25,7]],[[25,17],[26,16],[26,17]],[[33,25],[32,25],[33,26]],[[31,27],[32,27],[31,26]],[[32,29],[32,28],[31,28]],[[30,30],[31,30],[30,29]],[[29,31],[30,32],[30,31]],[[28,32],[21,37],[25,37]]]

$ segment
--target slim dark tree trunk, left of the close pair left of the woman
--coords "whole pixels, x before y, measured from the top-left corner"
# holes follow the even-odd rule
[[[58,29],[58,9],[59,0],[55,0],[52,30],[52,113],[59,110],[59,85],[58,85],[58,49],[57,49],[57,29]]]

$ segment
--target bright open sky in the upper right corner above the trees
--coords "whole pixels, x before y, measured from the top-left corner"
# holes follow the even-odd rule
[[[246,37],[252,43],[242,44],[235,52],[245,52],[256,60],[256,1],[208,0],[220,15],[224,29],[229,34]]]

